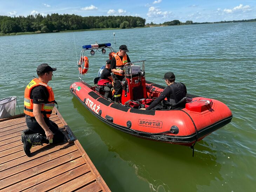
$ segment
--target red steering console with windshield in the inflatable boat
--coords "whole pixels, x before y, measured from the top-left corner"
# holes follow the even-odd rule
[[[129,100],[136,101],[147,98],[144,61],[125,64],[124,79],[121,82],[123,86],[122,104]],[[142,62],[142,69],[140,65],[134,64],[138,62]]]

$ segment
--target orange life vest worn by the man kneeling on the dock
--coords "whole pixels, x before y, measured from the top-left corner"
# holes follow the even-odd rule
[[[41,108],[42,116],[45,117],[45,118],[49,118],[50,114],[52,114],[52,110],[54,108],[54,103],[56,103],[56,101],[54,100],[53,90],[52,90],[51,87],[49,87],[49,85],[47,85],[46,83],[43,83],[42,81],[40,81],[37,78],[34,78],[30,83],[28,83],[28,85],[25,89],[24,113],[26,115],[34,117],[34,115],[33,115],[33,99],[30,98],[30,94],[31,94],[32,89],[36,86],[39,86],[39,85],[42,85],[42,86],[46,87],[46,89],[49,93],[47,103],[43,103],[42,108]]]

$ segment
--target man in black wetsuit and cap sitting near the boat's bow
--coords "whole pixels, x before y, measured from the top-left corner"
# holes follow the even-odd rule
[[[184,108],[186,104],[187,88],[183,83],[175,82],[175,75],[172,72],[164,74],[164,81],[168,85],[159,97],[154,100],[146,110],[160,110],[160,109],[180,109]],[[164,100],[167,98],[167,101]],[[162,106],[160,106],[162,102]],[[145,110],[145,108],[142,108]]]

